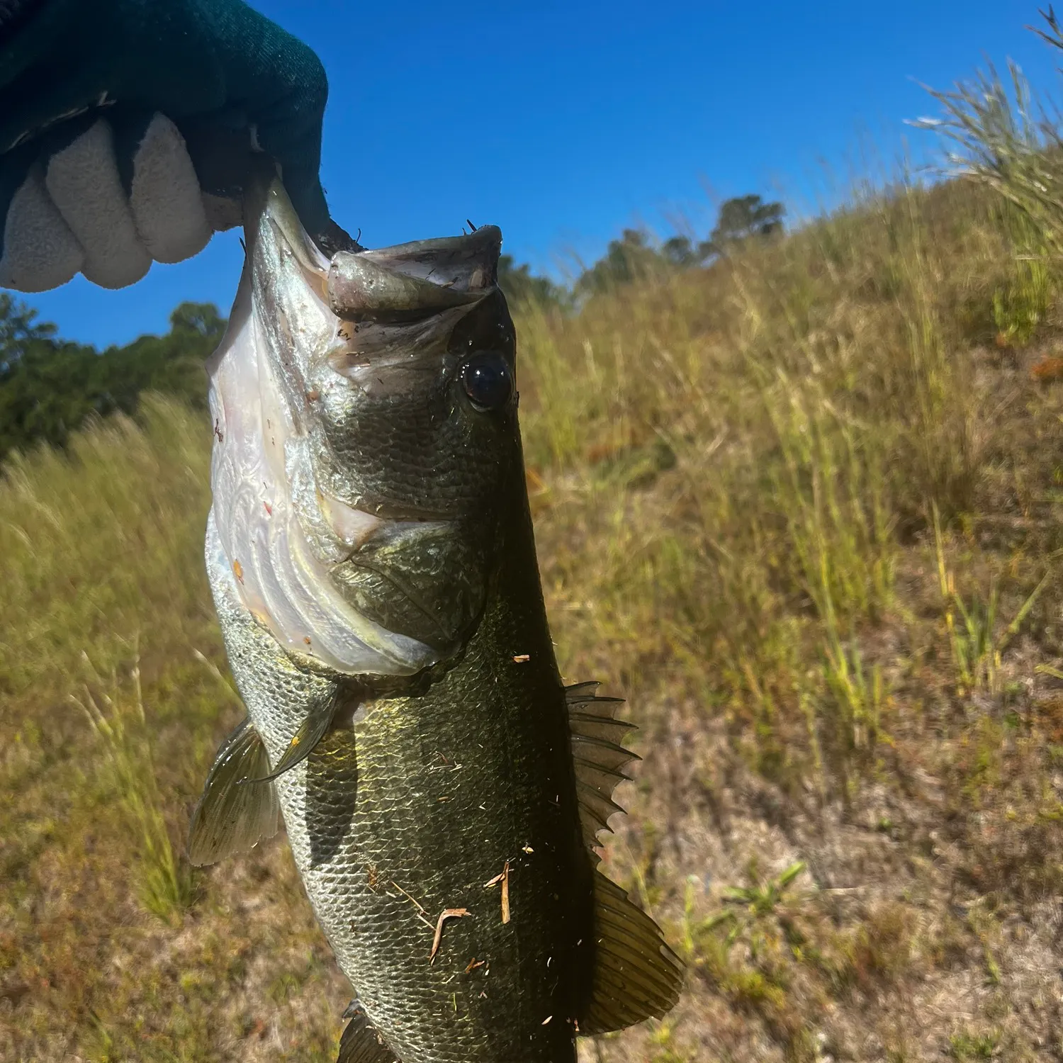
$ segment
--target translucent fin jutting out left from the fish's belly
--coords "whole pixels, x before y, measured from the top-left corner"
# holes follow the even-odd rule
[[[197,867],[246,853],[276,833],[281,807],[272,782],[246,783],[269,771],[269,757],[251,721],[221,744],[203,787],[188,834],[188,859]]]

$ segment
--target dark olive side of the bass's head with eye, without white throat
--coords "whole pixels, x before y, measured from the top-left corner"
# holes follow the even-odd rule
[[[328,270],[338,342],[315,378],[315,479],[334,532],[352,512],[379,522],[335,578],[442,653],[483,609],[502,489],[521,471],[501,241],[484,227],[339,252]]]

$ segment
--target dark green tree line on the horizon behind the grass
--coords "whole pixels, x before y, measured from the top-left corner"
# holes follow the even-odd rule
[[[628,229],[570,286],[537,276],[509,255],[502,256],[499,282],[517,306],[537,303],[574,311],[620,285],[711,265],[745,240],[780,232],[782,218],[781,204],[744,196],[721,206],[704,240],[673,236],[656,241]],[[0,460],[38,442],[63,446],[91,414],[135,414],[142,391],[162,391],[205,408],[203,362],[224,331],[225,319],[212,303],[182,303],[165,335],[141,336],[101,352],[58,338],[55,325],[37,321],[24,303],[0,292]]]

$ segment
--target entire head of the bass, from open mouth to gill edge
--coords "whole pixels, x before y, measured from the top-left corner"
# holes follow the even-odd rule
[[[290,654],[414,674],[475,627],[523,476],[502,235],[326,258],[279,180],[255,217],[208,365],[213,563]]]

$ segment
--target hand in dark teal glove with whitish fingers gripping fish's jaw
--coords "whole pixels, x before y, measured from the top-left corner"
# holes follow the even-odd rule
[[[256,150],[341,246],[327,92],[314,52],[241,0],[0,0],[0,286],[121,288],[196,254],[239,224]]]

